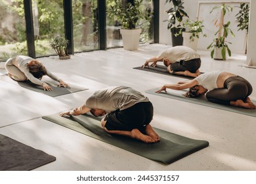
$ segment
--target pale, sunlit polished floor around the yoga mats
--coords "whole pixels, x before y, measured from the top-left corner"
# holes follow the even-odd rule
[[[153,44],[141,45],[138,51],[118,48],[78,53],[70,60],[39,58],[67,83],[89,90],[48,97],[0,81],[0,133],[57,158],[36,170],[256,170],[256,118],[145,93],[165,83],[184,80],[132,69],[165,48],[168,45]],[[245,63],[245,55],[232,54],[223,61],[211,59],[209,51],[197,52],[201,55],[201,72],[233,72],[256,89],[256,70],[240,66]],[[6,74],[5,70],[1,69],[0,74]],[[207,140],[209,147],[164,165],[41,118],[80,106],[95,90],[109,85],[127,85],[147,95],[155,110],[152,126]],[[251,99],[256,100],[256,90]]]

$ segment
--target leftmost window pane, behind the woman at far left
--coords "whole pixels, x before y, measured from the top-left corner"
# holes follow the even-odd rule
[[[0,60],[27,55],[23,1],[0,0]]]

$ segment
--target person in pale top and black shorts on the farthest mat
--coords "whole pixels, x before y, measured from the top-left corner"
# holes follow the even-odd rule
[[[159,61],[164,62],[170,74],[190,76],[193,78],[200,74],[200,56],[190,47],[176,46],[165,49],[157,57],[146,60],[141,68],[145,68],[145,66],[149,68],[149,62],[153,62],[151,66],[156,67]]]

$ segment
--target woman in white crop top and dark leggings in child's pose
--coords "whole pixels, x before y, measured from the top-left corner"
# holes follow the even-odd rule
[[[249,99],[253,91],[251,84],[244,78],[228,72],[207,72],[193,80],[163,85],[156,92],[166,91],[166,88],[176,90],[190,88],[185,94],[186,97],[194,98],[206,93],[207,99],[213,103],[255,108],[255,104]]]

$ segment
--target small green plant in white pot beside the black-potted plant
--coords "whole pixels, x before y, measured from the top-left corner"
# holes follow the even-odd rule
[[[184,38],[183,45],[197,51],[199,35],[202,34],[203,37],[206,37],[206,34],[203,34],[203,21],[187,19],[183,22],[183,26],[186,28],[186,31],[182,33]]]

